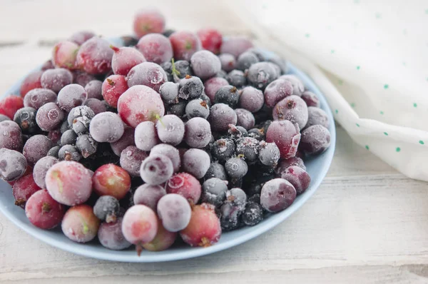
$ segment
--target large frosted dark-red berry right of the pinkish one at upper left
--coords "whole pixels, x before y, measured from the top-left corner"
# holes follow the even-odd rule
[[[113,50],[106,39],[98,36],[85,41],[78,49],[76,64],[87,73],[98,75],[111,70]]]

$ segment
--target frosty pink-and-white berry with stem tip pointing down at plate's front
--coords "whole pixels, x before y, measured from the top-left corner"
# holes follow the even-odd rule
[[[158,231],[156,214],[143,205],[135,205],[126,211],[122,220],[122,233],[128,242],[142,245],[151,242]],[[137,251],[141,248],[137,247]]]

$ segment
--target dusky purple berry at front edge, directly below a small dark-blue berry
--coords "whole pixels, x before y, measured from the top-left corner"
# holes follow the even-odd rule
[[[124,250],[132,245],[123,236],[122,220],[122,218],[118,218],[114,223],[101,223],[98,228],[98,240],[103,247],[111,250]]]

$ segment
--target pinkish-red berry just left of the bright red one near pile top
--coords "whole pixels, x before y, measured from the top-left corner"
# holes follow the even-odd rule
[[[190,57],[201,48],[198,36],[190,31],[175,31],[169,39],[173,46],[175,60],[190,61]]]

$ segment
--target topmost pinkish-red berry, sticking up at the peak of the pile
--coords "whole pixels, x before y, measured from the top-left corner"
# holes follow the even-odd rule
[[[141,38],[146,34],[159,33],[165,29],[165,17],[156,10],[146,9],[139,11],[133,22],[133,30]]]

